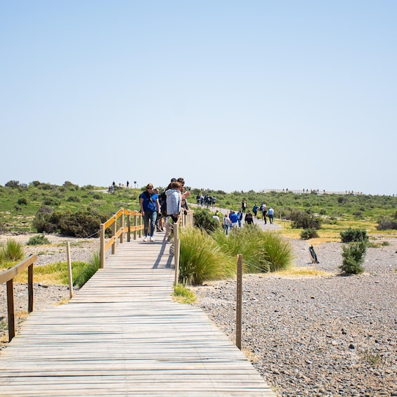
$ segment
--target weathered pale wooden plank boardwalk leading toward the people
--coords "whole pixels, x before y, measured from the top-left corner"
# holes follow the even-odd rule
[[[160,237],[160,236],[159,236]],[[0,396],[275,396],[200,308],[171,299],[170,245],[118,245],[0,354]]]

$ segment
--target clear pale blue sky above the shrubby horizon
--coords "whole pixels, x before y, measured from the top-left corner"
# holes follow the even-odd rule
[[[0,0],[0,184],[394,194],[395,0]]]

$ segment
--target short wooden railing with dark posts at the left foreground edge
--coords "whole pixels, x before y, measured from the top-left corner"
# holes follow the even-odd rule
[[[37,255],[30,255],[25,261],[0,273],[0,284],[7,283],[8,341],[15,337],[14,278],[27,268],[27,311],[33,311],[33,265]]]

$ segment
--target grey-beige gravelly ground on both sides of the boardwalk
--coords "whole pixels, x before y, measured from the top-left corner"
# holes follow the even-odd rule
[[[7,236],[0,236],[0,242]],[[9,236],[8,236],[9,237]],[[15,236],[13,236],[14,238]],[[18,236],[22,244],[29,236]],[[38,264],[91,258],[98,239],[52,237],[51,246],[24,246],[39,253]],[[363,275],[341,276],[341,244],[315,247],[320,263],[311,264],[308,242],[291,240],[297,266],[329,275],[308,278],[245,275],[242,349],[278,396],[397,396],[397,240],[369,248]],[[5,285],[0,285],[0,324],[6,326]],[[230,339],[235,339],[235,281],[195,287],[197,302]],[[37,285],[39,310],[67,299],[64,286]],[[27,309],[25,285],[15,286],[17,311]],[[0,330],[6,346],[6,330]]]

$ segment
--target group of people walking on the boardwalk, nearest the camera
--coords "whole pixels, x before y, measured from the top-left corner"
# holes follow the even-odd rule
[[[164,242],[169,241],[172,227],[178,222],[181,210],[188,210],[187,198],[190,191],[183,192],[185,181],[183,178],[172,178],[171,182],[160,194],[152,183],[148,183],[145,191],[139,195],[139,204],[143,216],[143,241],[155,241],[155,230],[164,231]]]

